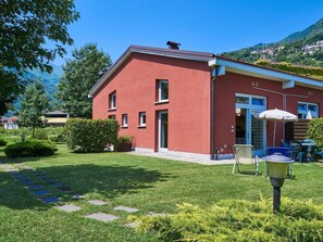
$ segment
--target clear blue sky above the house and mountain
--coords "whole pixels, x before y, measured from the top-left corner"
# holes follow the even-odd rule
[[[323,17],[322,0],[76,0],[78,22],[69,27],[73,49],[87,42],[112,61],[131,44],[222,53],[273,42]],[[54,64],[64,64],[57,59]]]

